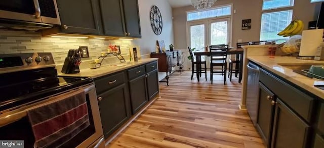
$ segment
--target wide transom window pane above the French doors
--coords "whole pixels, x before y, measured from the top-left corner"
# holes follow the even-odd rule
[[[231,15],[231,6],[208,9],[204,11],[195,11],[187,13],[187,20],[199,20],[199,19],[206,19],[212,17],[220,17],[220,16],[227,16]]]

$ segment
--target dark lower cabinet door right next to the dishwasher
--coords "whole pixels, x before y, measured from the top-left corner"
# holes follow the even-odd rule
[[[274,98],[274,94],[262,83],[259,83],[259,109],[256,127],[267,147],[270,147],[271,143],[274,115],[274,105],[271,102]]]

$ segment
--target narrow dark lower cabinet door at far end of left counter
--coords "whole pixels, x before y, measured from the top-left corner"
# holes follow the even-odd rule
[[[157,69],[147,73],[147,94],[151,100],[158,93],[158,73]]]

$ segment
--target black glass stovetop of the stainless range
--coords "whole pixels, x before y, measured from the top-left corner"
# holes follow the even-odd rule
[[[93,82],[92,78],[57,76],[56,69],[43,68],[0,75],[0,112]]]

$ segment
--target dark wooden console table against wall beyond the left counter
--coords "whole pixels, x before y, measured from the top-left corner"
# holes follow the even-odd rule
[[[169,86],[169,74],[172,72],[172,67],[179,66],[180,74],[182,74],[182,52],[181,51],[172,51],[166,53],[151,53],[151,58],[158,58],[158,72],[166,72],[166,81],[159,81],[159,82],[166,82]]]

